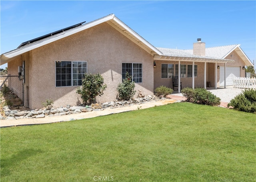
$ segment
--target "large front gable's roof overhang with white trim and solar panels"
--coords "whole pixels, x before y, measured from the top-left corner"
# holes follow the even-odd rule
[[[67,37],[69,35],[73,35],[74,33],[78,33],[80,31],[83,31],[85,29],[88,29],[90,27],[96,26],[100,23],[108,23],[112,27],[114,27],[116,30],[118,30],[120,33],[122,33],[124,36],[128,37],[131,41],[136,43],[136,45],[140,46],[142,49],[150,53],[151,55],[162,55],[162,53],[156,49],[153,45],[151,45],[148,41],[146,41],[144,38],[142,38],[138,33],[133,31],[130,27],[128,27],[126,24],[124,24],[121,20],[116,18],[114,14],[110,14],[108,16],[105,16],[103,18],[100,18],[98,20],[94,20],[89,23],[85,23],[82,25],[81,23],[78,23],[76,25],[73,25],[71,27],[68,27],[66,29],[62,29],[63,31],[56,31],[54,33],[50,33],[49,36],[42,36],[38,37],[36,39],[32,39],[30,41],[26,41],[22,43],[17,49],[14,49],[12,51],[9,51],[7,53],[3,53],[0,57],[1,59],[1,65],[8,63],[15,57],[22,55],[23,53],[26,53],[28,51],[31,51],[33,49],[36,49],[38,47],[41,47],[43,45],[46,45],[48,43],[52,43],[54,41],[57,41],[59,39],[62,39],[64,37]],[[84,23],[84,22],[83,22]]]

